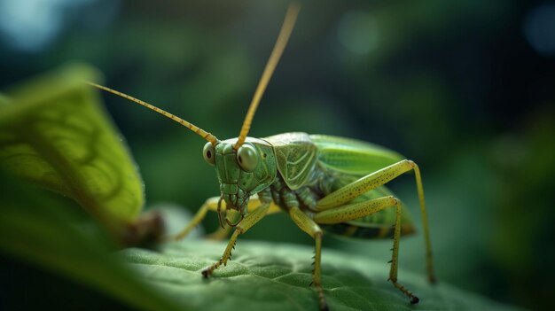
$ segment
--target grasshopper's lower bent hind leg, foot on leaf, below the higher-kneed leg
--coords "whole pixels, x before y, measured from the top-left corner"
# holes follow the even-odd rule
[[[367,201],[339,206],[328,209],[314,215],[314,221],[317,223],[333,224],[340,222],[348,222],[361,218],[363,216],[378,213],[387,207],[395,206],[397,214],[395,216],[395,230],[393,235],[393,254],[391,256],[391,268],[389,269],[389,281],[410,299],[411,304],[418,303],[419,299],[406,287],[397,282],[397,268],[399,260],[399,239],[401,238],[401,201],[399,199],[388,196],[382,198],[373,198]]]

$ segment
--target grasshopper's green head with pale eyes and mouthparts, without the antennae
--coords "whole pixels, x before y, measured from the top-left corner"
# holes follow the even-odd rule
[[[203,156],[208,164],[215,166],[220,182],[220,224],[223,225],[225,210],[234,209],[246,215],[246,206],[251,195],[270,186],[277,175],[276,155],[266,141],[246,137],[244,144],[234,148],[237,138],[220,141],[216,144],[207,143]],[[222,200],[225,210],[221,211]],[[229,225],[235,226],[226,219]]]

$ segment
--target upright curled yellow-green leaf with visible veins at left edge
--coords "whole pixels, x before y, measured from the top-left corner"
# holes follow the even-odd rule
[[[143,184],[121,137],[99,105],[88,66],[67,66],[5,94],[0,165],[74,198],[112,231],[133,222]]]

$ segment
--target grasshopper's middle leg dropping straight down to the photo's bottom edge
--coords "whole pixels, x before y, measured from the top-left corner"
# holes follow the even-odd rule
[[[322,284],[320,282],[320,259],[322,255],[322,229],[314,222],[307,214],[304,214],[301,209],[297,206],[291,207],[289,210],[289,215],[293,219],[293,222],[299,226],[303,231],[309,234],[310,237],[314,238],[316,241],[316,249],[314,255],[314,280],[312,284],[317,289],[318,292],[318,302],[320,305],[320,310],[328,310],[327,303],[325,302],[324,290],[322,289]]]

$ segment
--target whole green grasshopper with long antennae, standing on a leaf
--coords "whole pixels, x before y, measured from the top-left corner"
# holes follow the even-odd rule
[[[215,167],[221,195],[207,199],[192,222],[176,237],[186,236],[202,222],[208,210],[218,213],[222,228],[225,224],[229,226],[224,233],[231,228],[235,230],[222,258],[202,271],[204,277],[211,276],[215,269],[231,260],[231,251],[240,234],[265,215],[282,211],[316,241],[312,284],[316,287],[321,310],[328,309],[320,282],[323,229],[344,237],[393,237],[389,281],[410,299],[410,303],[418,303],[418,297],[397,282],[399,239],[414,228],[401,201],[384,186],[397,176],[414,171],[426,239],[428,278],[434,282],[426,203],[416,163],[381,146],[337,136],[306,133],[264,138],[247,136],[254,112],[293,31],[299,9],[299,5],[292,4],[287,11],[238,138],[221,141],[202,128],[135,97],[90,84],[145,105],[208,141],[202,154],[207,163]],[[230,221],[228,211],[235,212],[239,218],[237,222]]]

